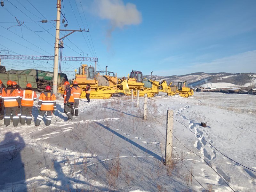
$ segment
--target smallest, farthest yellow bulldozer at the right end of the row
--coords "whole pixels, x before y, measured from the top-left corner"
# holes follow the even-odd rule
[[[172,85],[172,86],[171,86]],[[171,92],[175,92],[179,94],[181,97],[186,97],[188,98],[191,95],[194,95],[194,91],[192,88],[188,87],[188,82],[178,82],[178,86],[176,87],[175,85],[172,84],[172,82],[169,84],[168,89]],[[168,95],[171,95],[168,93]]]

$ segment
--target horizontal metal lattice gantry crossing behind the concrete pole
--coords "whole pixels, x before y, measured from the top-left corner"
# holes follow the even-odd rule
[[[34,56],[34,55],[0,55],[1,59],[24,59],[24,60],[54,60],[54,56]],[[60,60],[60,57],[59,57]],[[61,57],[64,61],[94,61],[97,62],[98,58],[95,57]]]

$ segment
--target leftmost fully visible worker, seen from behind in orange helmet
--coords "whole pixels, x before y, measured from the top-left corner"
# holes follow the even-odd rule
[[[20,106],[20,94],[12,86],[12,81],[7,81],[7,87],[2,91],[2,100],[5,107],[4,124],[9,126],[11,114],[13,115],[13,126],[19,124],[18,107]]]

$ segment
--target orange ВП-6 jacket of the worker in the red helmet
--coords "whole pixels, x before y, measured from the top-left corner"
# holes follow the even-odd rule
[[[41,105],[39,105],[42,102]],[[52,111],[54,109],[54,103],[56,107],[56,97],[52,92],[43,92],[38,99],[38,108],[41,111]]]

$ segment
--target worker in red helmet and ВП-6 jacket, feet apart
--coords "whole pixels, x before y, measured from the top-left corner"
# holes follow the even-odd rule
[[[46,113],[46,126],[52,122],[52,113],[56,110],[56,96],[51,92],[51,87],[46,86],[45,91],[41,93],[38,99],[38,116],[36,118],[35,126],[38,127]]]

